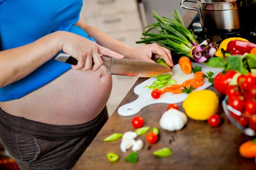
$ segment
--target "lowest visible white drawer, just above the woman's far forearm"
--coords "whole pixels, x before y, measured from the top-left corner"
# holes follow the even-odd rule
[[[140,37],[143,37],[142,30],[117,33],[117,34],[109,34],[109,36],[113,37],[116,40],[124,42],[125,44],[131,47],[140,47],[144,45],[144,44],[136,44],[136,41],[140,41]]]

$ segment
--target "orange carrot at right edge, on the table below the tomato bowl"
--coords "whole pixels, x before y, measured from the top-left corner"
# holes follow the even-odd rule
[[[239,147],[239,153],[244,158],[255,158],[256,156],[256,139],[244,142]]]

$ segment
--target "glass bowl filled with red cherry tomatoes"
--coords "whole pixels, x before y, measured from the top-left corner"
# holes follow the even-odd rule
[[[256,136],[256,77],[240,75],[229,85],[222,101],[223,110],[233,125],[248,136]]]

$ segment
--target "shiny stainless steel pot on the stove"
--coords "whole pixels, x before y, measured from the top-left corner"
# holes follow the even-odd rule
[[[184,2],[197,3],[198,7],[184,6]],[[251,18],[255,15],[255,3],[256,0],[181,0],[180,6],[198,11],[204,30],[228,34],[256,26]]]

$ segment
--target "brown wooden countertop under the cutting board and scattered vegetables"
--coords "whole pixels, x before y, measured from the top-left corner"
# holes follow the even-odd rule
[[[195,13],[191,14],[195,15]],[[191,15],[187,14],[186,16]],[[192,19],[193,17],[190,17],[190,22]],[[184,19],[184,22],[189,21]],[[177,59],[173,60],[177,64]],[[145,80],[146,78],[139,78],[119,106],[137,99],[134,88]],[[73,170],[255,170],[256,165],[253,159],[244,159],[239,155],[239,146],[250,138],[228,121],[221,106],[223,96],[215,90],[213,85],[208,89],[220,97],[218,114],[223,122],[219,127],[210,127],[207,121],[188,119],[188,123],[182,130],[169,132],[160,128],[159,125],[160,117],[166,111],[167,104],[150,105],[134,116],[143,117],[144,126],[158,127],[160,140],[156,144],[150,145],[145,140],[146,134],[137,137],[137,139],[142,139],[145,145],[143,150],[138,151],[139,161],[131,164],[123,159],[132,153],[132,150],[129,149],[127,153],[122,153],[120,150],[121,139],[113,142],[102,141],[112,133],[135,130],[131,125],[134,116],[120,116],[116,109],[77,161]],[[178,106],[180,111],[184,111],[182,103],[179,103]],[[151,146],[150,149],[149,146]],[[172,156],[157,158],[152,155],[153,151],[162,147],[172,149]],[[119,161],[114,163],[108,161],[106,155],[111,152],[119,155]]]

